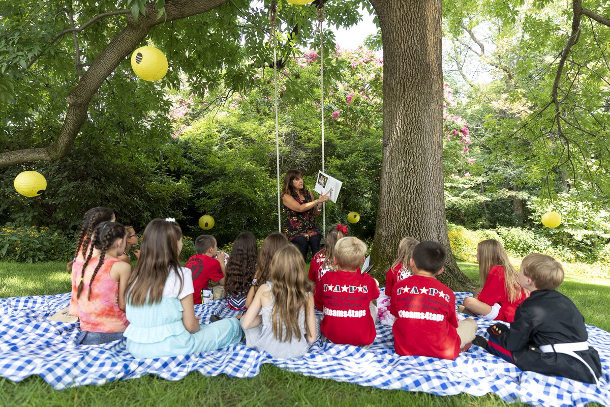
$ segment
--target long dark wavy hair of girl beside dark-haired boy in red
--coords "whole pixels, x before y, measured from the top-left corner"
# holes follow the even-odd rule
[[[140,255],[142,256],[142,255]],[[225,273],[224,290],[227,296],[245,295],[254,278],[256,270],[257,248],[256,237],[252,232],[242,232],[231,250],[231,256]]]

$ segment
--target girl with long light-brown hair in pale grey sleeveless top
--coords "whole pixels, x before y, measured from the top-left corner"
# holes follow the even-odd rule
[[[284,245],[270,268],[269,281],[256,291],[242,318],[246,346],[273,358],[300,358],[317,334],[312,283],[305,274],[303,254],[295,245]]]

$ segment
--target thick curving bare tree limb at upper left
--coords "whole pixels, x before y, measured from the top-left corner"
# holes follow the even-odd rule
[[[81,131],[82,124],[87,118],[89,102],[98,92],[104,79],[112,73],[134,48],[148,35],[148,32],[157,24],[179,20],[188,16],[204,13],[218,7],[227,0],[168,0],[165,4],[166,15],[157,19],[154,4],[149,3],[146,8],[146,17],[140,15],[134,20],[127,16],[127,27],[121,30],[99,56],[91,63],[74,89],[68,94],[68,109],[63,120],[62,129],[57,140],[43,148],[27,148],[16,151],[5,151],[0,154],[0,167],[32,162],[39,160],[52,161],[68,156],[74,145],[74,140]]]

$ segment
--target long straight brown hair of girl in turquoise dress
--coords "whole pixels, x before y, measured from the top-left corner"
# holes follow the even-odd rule
[[[127,280],[127,302],[138,306],[159,303],[163,297],[165,280],[174,270],[180,281],[178,241],[182,239],[182,229],[176,222],[153,219],[142,236],[140,259]]]

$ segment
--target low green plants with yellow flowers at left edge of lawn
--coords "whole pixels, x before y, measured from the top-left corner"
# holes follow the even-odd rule
[[[63,234],[44,226],[28,228],[7,223],[2,227],[0,240],[0,261],[62,261],[76,250]]]

